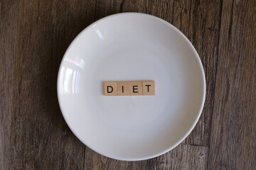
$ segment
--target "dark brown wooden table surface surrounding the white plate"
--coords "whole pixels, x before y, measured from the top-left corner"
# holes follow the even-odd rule
[[[256,169],[256,1],[1,1],[0,169]],[[70,42],[90,23],[141,12],[173,24],[206,72],[191,135],[141,162],[103,157],[60,113],[56,79]]]

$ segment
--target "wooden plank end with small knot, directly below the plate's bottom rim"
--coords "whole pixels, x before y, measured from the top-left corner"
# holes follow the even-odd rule
[[[208,147],[178,145],[170,152],[139,162],[123,162],[86,149],[85,169],[206,169]]]

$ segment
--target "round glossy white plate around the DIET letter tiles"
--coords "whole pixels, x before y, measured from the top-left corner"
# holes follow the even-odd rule
[[[136,80],[154,80],[156,96],[103,95],[103,81]],[[107,16],[82,30],[58,73],[68,126],[87,147],[113,159],[149,159],[176,147],[196,125],[205,95],[191,42],[142,13]]]

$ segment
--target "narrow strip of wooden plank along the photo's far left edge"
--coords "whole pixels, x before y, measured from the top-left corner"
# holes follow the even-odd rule
[[[8,169],[18,1],[0,1],[0,7],[0,169]]]

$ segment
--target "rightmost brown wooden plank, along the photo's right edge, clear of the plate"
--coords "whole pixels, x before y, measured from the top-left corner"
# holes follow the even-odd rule
[[[256,1],[223,1],[208,169],[256,169]]]

